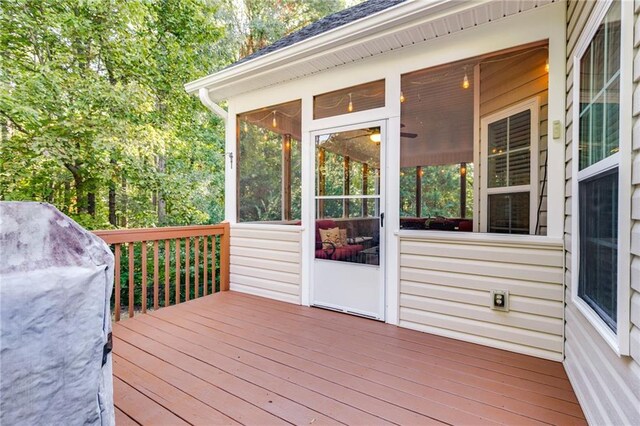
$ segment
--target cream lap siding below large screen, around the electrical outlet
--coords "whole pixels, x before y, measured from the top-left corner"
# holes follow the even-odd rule
[[[400,239],[400,325],[562,360],[562,244]],[[508,290],[510,311],[489,308]]]

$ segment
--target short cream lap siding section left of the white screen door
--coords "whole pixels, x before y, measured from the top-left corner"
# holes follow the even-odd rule
[[[299,228],[231,226],[231,290],[300,303]]]

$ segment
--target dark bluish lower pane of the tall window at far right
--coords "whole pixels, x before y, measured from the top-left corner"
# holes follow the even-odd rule
[[[580,182],[578,295],[616,330],[618,170]]]

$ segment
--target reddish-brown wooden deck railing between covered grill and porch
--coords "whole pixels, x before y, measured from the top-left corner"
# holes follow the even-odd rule
[[[94,234],[111,246],[115,256],[115,321],[120,321],[122,293],[128,299],[128,315],[133,317],[136,310],[159,309],[163,293],[162,302],[169,306],[172,301],[177,304],[229,289],[228,223]],[[128,265],[124,270],[123,260]]]

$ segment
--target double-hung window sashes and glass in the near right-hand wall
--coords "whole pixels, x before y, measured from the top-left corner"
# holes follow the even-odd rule
[[[611,329],[618,324],[620,2],[579,56],[577,295]]]

